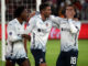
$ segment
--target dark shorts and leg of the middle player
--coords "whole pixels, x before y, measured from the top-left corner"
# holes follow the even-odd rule
[[[31,52],[35,59],[35,66],[46,66],[44,52],[41,50],[31,50]]]

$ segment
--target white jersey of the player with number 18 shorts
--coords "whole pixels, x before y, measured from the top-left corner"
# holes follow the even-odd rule
[[[68,52],[70,50],[78,50],[78,35],[80,30],[80,22],[72,19],[62,19],[51,15],[50,20],[56,23],[61,30],[61,51]]]

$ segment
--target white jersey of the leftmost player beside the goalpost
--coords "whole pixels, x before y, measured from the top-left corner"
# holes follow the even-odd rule
[[[7,58],[26,57],[23,38],[21,34],[24,32],[24,23],[20,24],[16,19],[8,23],[8,40],[7,40]]]

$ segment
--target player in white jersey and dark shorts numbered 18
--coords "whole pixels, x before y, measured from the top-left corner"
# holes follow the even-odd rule
[[[51,15],[50,20],[61,29],[61,54],[56,66],[76,66],[78,58],[78,35],[80,22],[75,20],[76,9],[69,4],[65,9],[65,19]]]

